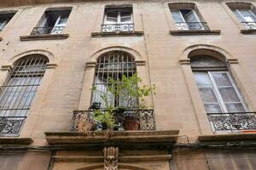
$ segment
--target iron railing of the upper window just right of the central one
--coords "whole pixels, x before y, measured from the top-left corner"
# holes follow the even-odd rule
[[[178,30],[210,30],[207,22],[176,22]]]

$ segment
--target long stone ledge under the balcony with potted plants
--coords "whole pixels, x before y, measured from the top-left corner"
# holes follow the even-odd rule
[[[178,130],[170,131],[95,131],[88,134],[79,132],[46,132],[49,144],[154,144],[176,143]]]

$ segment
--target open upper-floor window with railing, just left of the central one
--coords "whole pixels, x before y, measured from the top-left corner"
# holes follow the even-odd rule
[[[70,12],[70,10],[45,11],[38,26],[33,29],[31,34],[61,34],[65,29]]]

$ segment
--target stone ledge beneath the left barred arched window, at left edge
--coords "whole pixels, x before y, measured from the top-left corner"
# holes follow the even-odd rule
[[[32,138],[0,137],[0,144],[32,144]]]

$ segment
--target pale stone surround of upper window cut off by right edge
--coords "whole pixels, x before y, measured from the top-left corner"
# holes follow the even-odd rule
[[[246,30],[246,28],[244,26],[242,26],[241,21],[232,12],[230,6],[231,7],[232,6],[236,7],[238,5],[242,5],[244,7],[253,7],[253,6],[255,7],[255,3],[253,3],[252,1],[236,1],[236,2],[234,2],[234,1],[224,1],[220,4],[223,6],[226,13],[230,15],[231,20],[233,20],[235,22],[236,26],[238,26],[238,28],[240,30]]]

